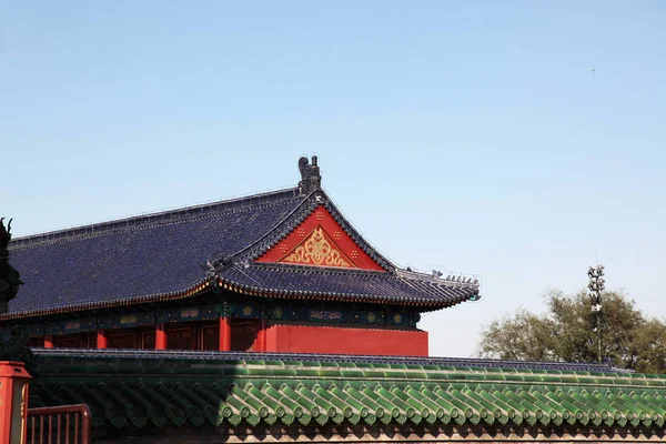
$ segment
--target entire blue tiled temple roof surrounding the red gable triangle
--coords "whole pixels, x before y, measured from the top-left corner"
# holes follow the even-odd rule
[[[385,272],[254,263],[325,204]],[[344,220],[326,194],[299,189],[19,238],[11,262],[26,283],[2,317],[182,296],[205,283],[275,297],[450,306],[478,285],[397,270]],[[262,294],[260,294],[262,295]]]

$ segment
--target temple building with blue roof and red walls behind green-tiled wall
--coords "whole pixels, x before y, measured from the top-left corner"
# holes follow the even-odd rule
[[[403,270],[321,188],[297,186],[11,242],[6,325],[33,346],[427,355],[421,313],[478,282]]]

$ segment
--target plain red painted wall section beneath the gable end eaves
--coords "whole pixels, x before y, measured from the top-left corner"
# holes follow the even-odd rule
[[[266,351],[427,356],[427,332],[272,325]]]

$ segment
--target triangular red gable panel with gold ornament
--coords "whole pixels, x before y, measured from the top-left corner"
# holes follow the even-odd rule
[[[256,262],[282,262],[313,266],[337,266],[384,271],[340,226],[324,205]]]

